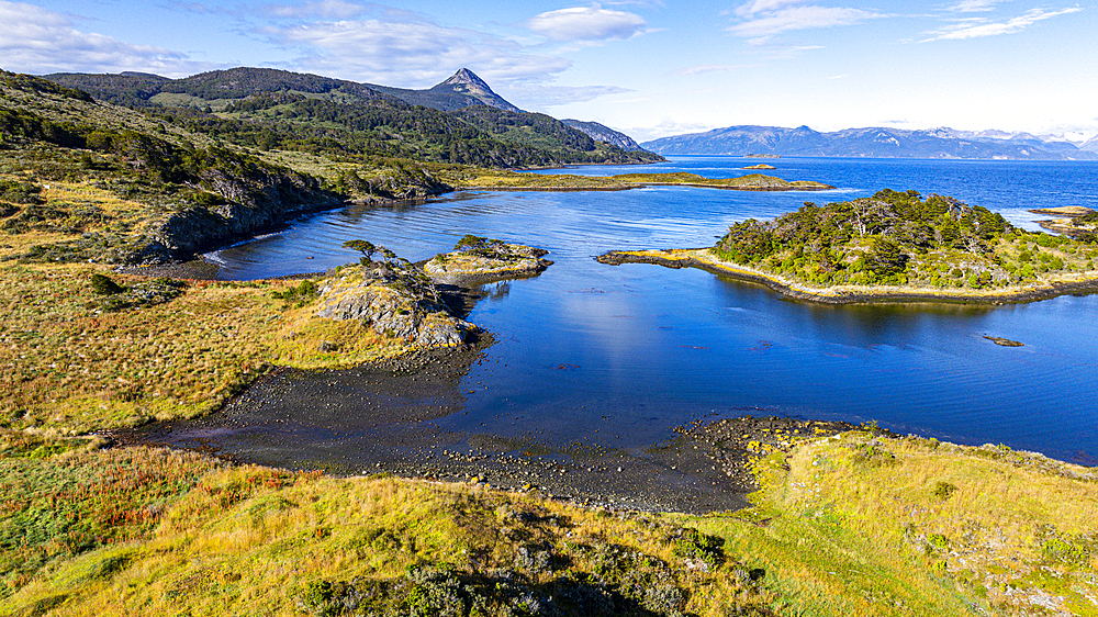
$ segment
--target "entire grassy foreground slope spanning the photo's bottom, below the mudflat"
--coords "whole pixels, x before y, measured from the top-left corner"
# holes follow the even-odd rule
[[[805,436],[755,459],[754,507],[704,517],[40,447],[0,459],[0,614],[1098,609],[1093,470],[990,446]]]

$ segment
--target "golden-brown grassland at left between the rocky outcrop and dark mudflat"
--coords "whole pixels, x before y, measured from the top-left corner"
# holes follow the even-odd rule
[[[273,364],[348,366],[406,350],[357,323],[313,317],[281,281],[192,281],[165,304],[105,312],[91,265],[0,269],[0,423],[54,434],[191,417]],[[121,283],[138,278],[115,276]],[[322,351],[338,344],[340,352]]]

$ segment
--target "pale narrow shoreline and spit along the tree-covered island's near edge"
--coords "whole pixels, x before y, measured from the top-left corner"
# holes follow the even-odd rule
[[[764,285],[793,300],[804,300],[820,304],[873,304],[873,303],[946,303],[946,304],[1017,304],[1049,300],[1073,293],[1098,292],[1098,273],[1077,281],[1052,281],[1031,287],[1012,287],[991,291],[944,290],[884,287],[878,289],[836,285],[833,288],[809,288],[796,282],[762,272],[748,266],[724,261],[708,248],[610,250],[595,258],[600,263],[619,266],[623,263],[654,263],[666,268],[697,268],[718,276]]]

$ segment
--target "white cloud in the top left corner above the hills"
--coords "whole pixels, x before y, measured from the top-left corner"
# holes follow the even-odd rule
[[[69,18],[34,4],[0,0],[0,57],[9,70],[117,72],[138,70],[181,77],[214,68],[152,45],[132,45],[74,27]]]

